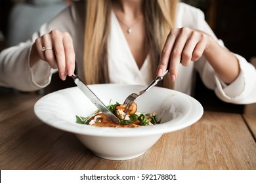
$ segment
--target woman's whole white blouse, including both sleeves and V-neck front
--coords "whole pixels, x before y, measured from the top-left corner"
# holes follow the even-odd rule
[[[33,34],[32,39],[17,46],[7,48],[0,53],[0,86],[16,88],[18,90],[39,90],[49,85],[54,69],[45,61],[39,61],[32,68],[29,67],[30,50],[35,39],[52,29],[68,31],[73,38],[75,57],[77,60],[77,74],[83,76],[83,1],[75,1],[72,7],[66,8],[51,22],[41,26],[39,32]],[[82,22],[82,24],[81,24]],[[198,8],[179,3],[176,27],[191,27],[205,31],[224,46],[204,20],[204,15]],[[139,69],[133,54],[127,44],[123,31],[112,12],[108,42],[108,68],[110,82],[119,84],[147,85],[152,81],[149,59],[146,58]],[[186,93],[192,92],[194,70],[200,73],[207,88],[215,90],[216,95],[228,103],[247,104],[256,102],[256,70],[244,58],[235,54],[240,63],[240,75],[232,84],[226,86],[222,82],[207,60],[202,57],[191,62],[187,67],[179,65],[179,75],[175,81],[175,90]]]

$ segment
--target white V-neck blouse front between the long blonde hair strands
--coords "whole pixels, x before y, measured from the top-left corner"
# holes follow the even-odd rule
[[[139,69],[129,48],[125,35],[111,13],[111,26],[108,42],[108,73],[111,83],[148,85],[152,82],[152,71],[148,57]]]

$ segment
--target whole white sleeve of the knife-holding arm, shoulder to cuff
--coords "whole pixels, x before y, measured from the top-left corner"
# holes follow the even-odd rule
[[[30,67],[30,52],[35,39],[53,29],[68,31],[74,35],[77,13],[74,7],[66,8],[51,22],[43,24],[32,39],[0,52],[0,86],[21,91],[35,91],[45,88],[51,82],[56,69],[51,69],[46,61],[39,60]],[[78,34],[77,34],[78,35]]]

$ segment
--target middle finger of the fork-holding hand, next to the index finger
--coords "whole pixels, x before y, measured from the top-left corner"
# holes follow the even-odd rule
[[[190,29],[184,27],[180,30],[180,33],[175,41],[173,50],[171,51],[169,75],[171,80],[175,80],[178,76],[179,63],[181,63],[181,56],[188,39]]]

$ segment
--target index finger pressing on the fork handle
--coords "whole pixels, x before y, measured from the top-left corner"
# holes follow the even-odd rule
[[[166,69],[169,69],[167,68],[167,65],[169,64],[171,50],[173,49],[173,45],[175,44],[176,37],[177,29],[172,29],[167,36],[167,39],[163,46],[163,50],[161,52],[160,63],[157,69],[157,76],[162,76]]]

